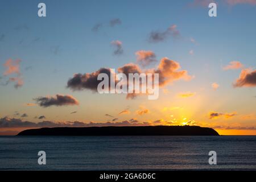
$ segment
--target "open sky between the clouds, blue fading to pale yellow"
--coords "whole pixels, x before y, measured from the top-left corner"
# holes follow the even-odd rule
[[[204,115],[209,110],[238,110],[238,113],[255,114],[255,88],[234,89],[232,83],[241,70],[221,69],[233,60],[240,61],[245,68],[255,69],[255,5],[241,3],[231,6],[219,1],[218,16],[210,18],[209,9],[191,6],[193,1],[44,1],[47,17],[39,18],[39,2],[1,2],[0,36],[4,36],[0,41],[0,73],[5,72],[2,65],[6,60],[20,59],[24,80],[19,89],[12,84],[0,86],[1,117],[18,110],[29,113],[30,120],[40,113],[46,113],[48,119],[54,120],[63,112],[80,109],[84,114],[78,114],[76,118],[67,114],[59,120],[104,121],[106,118],[102,113],[118,113],[127,106],[133,110],[141,105],[157,110],[154,105],[186,105],[189,102],[191,106],[196,102],[176,101],[175,95],[179,92],[201,94],[201,100],[205,102],[196,114]],[[111,27],[109,21],[115,18],[122,23]],[[102,27],[93,32],[92,28],[97,23]],[[165,31],[172,24],[176,24],[179,38],[170,36],[164,42],[148,42],[150,32]],[[191,38],[196,42],[192,43]],[[113,55],[113,40],[122,42],[123,55]],[[125,96],[99,96],[90,90],[72,92],[66,88],[74,73],[91,73],[102,67],[117,69],[124,64],[135,63],[135,52],[139,50],[153,51],[158,60],[168,57],[178,61],[181,68],[195,78],[185,84],[178,81],[167,85],[171,95],[160,96],[156,104],[143,98],[127,101]],[[191,50],[193,55],[189,54]],[[210,88],[213,82],[220,85],[217,92]],[[80,106],[58,107],[56,110],[22,106],[33,102],[32,98],[57,93],[71,94],[80,100]],[[102,103],[102,100],[106,102]],[[217,104],[214,103],[216,100],[219,100]],[[109,110],[109,103],[113,104],[115,111]],[[99,105],[101,116],[97,111]],[[158,111],[155,113],[159,116]],[[142,120],[151,117],[145,116]],[[199,118],[202,120],[203,116]],[[253,121],[250,121],[248,126],[252,125]]]

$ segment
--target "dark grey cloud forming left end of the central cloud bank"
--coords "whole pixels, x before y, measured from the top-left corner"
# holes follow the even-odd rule
[[[93,73],[85,73],[82,75],[81,73],[75,74],[73,78],[68,80],[68,88],[72,90],[83,90],[83,89],[90,89],[94,92],[97,91],[98,84],[101,80],[97,80],[97,77],[100,73],[106,73],[109,76],[112,75],[114,77],[114,73],[109,68],[100,68],[98,71]],[[109,80],[110,85],[110,80]]]

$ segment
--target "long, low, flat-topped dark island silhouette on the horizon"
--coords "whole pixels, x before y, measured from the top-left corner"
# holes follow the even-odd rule
[[[218,135],[217,131],[209,127],[200,126],[104,126],[104,127],[53,127],[42,129],[28,129],[18,135],[43,136],[118,136],[118,135]]]

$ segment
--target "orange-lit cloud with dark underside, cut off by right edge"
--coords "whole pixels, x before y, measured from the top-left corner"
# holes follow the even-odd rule
[[[240,77],[234,82],[234,87],[254,87],[256,86],[256,69],[242,69]]]

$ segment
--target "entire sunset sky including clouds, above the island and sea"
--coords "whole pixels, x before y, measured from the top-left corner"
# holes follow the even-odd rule
[[[1,2],[0,135],[146,125],[256,135],[256,0],[43,1],[46,17],[40,2]],[[97,93],[85,78],[101,68],[160,72],[159,98]]]

